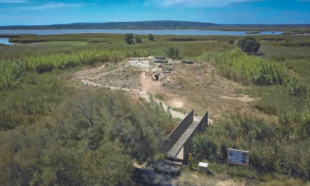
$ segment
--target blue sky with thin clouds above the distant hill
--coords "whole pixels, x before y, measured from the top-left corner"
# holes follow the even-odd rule
[[[310,0],[0,0],[0,26],[142,20],[310,24]]]

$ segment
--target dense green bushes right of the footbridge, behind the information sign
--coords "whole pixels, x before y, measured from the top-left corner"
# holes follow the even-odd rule
[[[304,133],[309,132],[309,118],[309,113],[304,113]],[[309,135],[301,137],[287,124],[268,123],[249,113],[218,120],[194,137],[194,156],[221,162],[226,160],[228,148],[242,149],[250,151],[249,162],[261,173],[277,171],[310,179]]]

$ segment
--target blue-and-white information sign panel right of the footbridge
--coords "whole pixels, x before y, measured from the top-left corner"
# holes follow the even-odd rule
[[[227,149],[227,163],[249,166],[249,151]]]

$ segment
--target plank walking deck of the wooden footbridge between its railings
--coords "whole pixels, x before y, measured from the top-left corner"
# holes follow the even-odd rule
[[[183,161],[183,144],[187,141],[190,135],[192,135],[192,132],[197,125],[199,125],[199,121],[193,121],[190,126],[188,126],[187,130],[185,130],[179,140],[173,145],[170,151],[168,151],[166,158]]]

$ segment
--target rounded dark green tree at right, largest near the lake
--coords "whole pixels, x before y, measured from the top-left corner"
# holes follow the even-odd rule
[[[261,44],[253,36],[242,37],[238,40],[237,46],[247,54],[254,54],[259,51]]]

